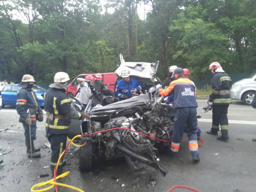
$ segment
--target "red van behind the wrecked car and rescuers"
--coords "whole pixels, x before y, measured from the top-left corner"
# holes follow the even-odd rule
[[[94,76],[96,73],[91,73],[91,74],[80,74],[78,75],[76,78],[74,78],[74,80],[68,85],[67,88],[67,94],[74,96],[76,91],[77,91],[77,86],[78,86],[78,82],[77,82],[77,78],[85,78],[88,75],[92,75]],[[108,85],[108,89],[114,91],[114,87],[115,87],[115,82],[117,79],[117,75],[116,73],[101,73],[102,77],[103,77],[103,84],[104,85]]]

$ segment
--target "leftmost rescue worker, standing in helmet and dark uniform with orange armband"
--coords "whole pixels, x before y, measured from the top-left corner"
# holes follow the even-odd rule
[[[21,82],[18,84],[22,87],[17,93],[16,110],[19,114],[19,122],[22,123],[25,130],[25,139],[27,146],[27,157],[39,157],[41,154],[38,152],[40,148],[34,147],[34,140],[37,135],[37,120],[43,121],[43,112],[37,100],[36,93],[32,90],[35,83],[35,79],[32,75],[25,74],[22,77]],[[31,137],[29,135],[29,129]],[[31,139],[31,141],[30,141]],[[31,144],[31,146],[30,146]]]

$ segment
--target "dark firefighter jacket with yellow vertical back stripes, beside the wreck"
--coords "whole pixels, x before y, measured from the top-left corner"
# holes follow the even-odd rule
[[[65,134],[70,119],[83,118],[82,113],[72,109],[64,89],[50,88],[45,93],[46,133]]]

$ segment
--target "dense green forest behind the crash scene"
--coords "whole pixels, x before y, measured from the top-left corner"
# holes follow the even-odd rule
[[[256,0],[0,0],[0,80],[114,72],[119,53],[159,60],[161,79],[177,65],[201,80],[213,61],[227,73],[251,73]]]

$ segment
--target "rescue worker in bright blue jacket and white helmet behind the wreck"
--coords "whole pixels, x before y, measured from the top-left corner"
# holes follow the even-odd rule
[[[119,100],[126,100],[132,96],[133,93],[139,93],[143,88],[142,82],[130,77],[130,72],[125,69],[121,73],[123,79],[117,83],[115,94]]]

